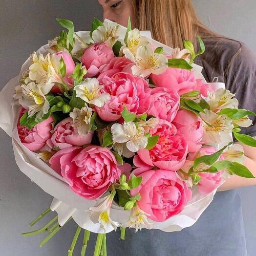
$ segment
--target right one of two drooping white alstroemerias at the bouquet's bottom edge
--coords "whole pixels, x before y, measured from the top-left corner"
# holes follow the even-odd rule
[[[147,213],[143,212],[138,206],[133,207],[130,212],[130,217],[124,227],[135,228],[135,232],[141,229],[152,229],[153,223],[150,223],[147,218]]]

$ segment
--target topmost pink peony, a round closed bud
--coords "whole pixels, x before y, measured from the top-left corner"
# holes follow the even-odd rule
[[[99,74],[100,67],[108,64],[115,57],[113,50],[106,43],[93,43],[85,49],[81,62],[87,69],[85,77]]]

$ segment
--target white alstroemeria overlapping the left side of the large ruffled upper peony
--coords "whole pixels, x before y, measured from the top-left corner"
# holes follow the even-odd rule
[[[103,107],[110,100],[110,95],[101,93],[102,87],[103,85],[99,84],[97,78],[86,78],[80,85],[76,85],[74,90],[76,91],[76,96],[86,103]]]

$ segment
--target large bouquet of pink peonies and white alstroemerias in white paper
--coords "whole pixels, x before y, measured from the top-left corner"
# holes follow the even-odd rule
[[[94,19],[91,31],[67,30],[34,52],[0,93],[0,126],[13,138],[17,165],[54,196],[58,216],[23,236],[47,233],[71,218],[85,255],[107,255],[106,234],[121,229],[180,231],[193,225],[230,175],[254,178],[242,165],[241,134],[252,111],[238,109],[222,83],[206,83],[189,41],[171,49],[150,33]],[[149,36],[147,36],[149,35]],[[14,93],[15,90],[15,93]],[[13,99],[12,99],[13,98]],[[10,107],[11,105],[11,107]],[[232,136],[233,135],[233,136]]]

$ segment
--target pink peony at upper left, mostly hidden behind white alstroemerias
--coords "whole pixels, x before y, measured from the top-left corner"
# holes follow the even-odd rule
[[[57,52],[57,53],[52,53],[54,55],[60,56],[60,58],[63,58],[63,61],[65,63],[66,66],[66,74],[63,78],[64,82],[66,83],[66,85],[68,86],[68,88],[72,87],[71,85],[74,84],[74,80],[73,78],[68,78],[70,75],[73,74],[74,69],[76,67],[76,64],[74,63],[72,56],[68,53],[68,52]],[[51,89],[52,92],[56,92],[56,93],[61,93],[58,85],[54,85]]]

